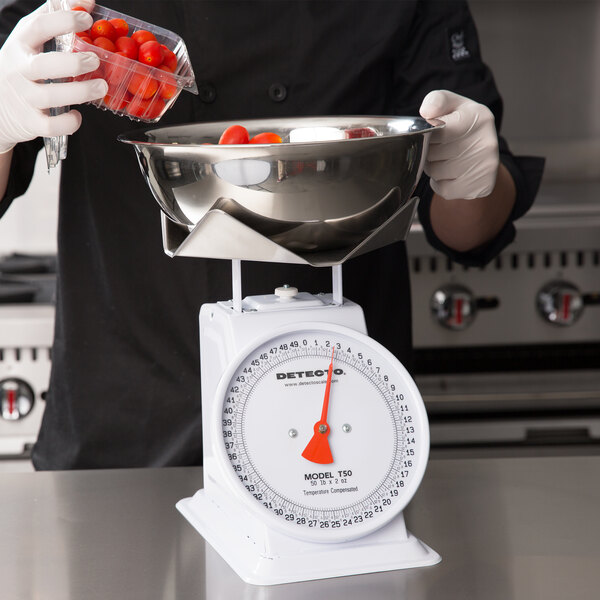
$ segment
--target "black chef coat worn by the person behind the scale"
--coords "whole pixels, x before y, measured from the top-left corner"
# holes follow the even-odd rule
[[[182,92],[161,125],[259,117],[417,115],[423,97],[449,89],[486,104],[499,126],[502,102],[482,63],[464,2],[105,0],[103,5],[170,29],[186,42],[199,95]],[[9,3],[3,42],[39,2]],[[462,40],[457,52],[456,36]],[[454,40],[454,44],[453,44]],[[230,263],[168,258],[159,208],[133,150],[116,141],[136,124],[91,106],[62,166],[58,292],[52,375],[38,469],[191,465],[202,461],[197,314],[231,297]],[[139,126],[139,125],[137,125]],[[15,149],[0,211],[22,194],[39,140]],[[541,166],[502,160],[518,190],[510,221],[476,251],[451,252],[429,225],[424,178],[420,219],[454,260],[480,265],[514,236],[512,220],[533,200]],[[405,246],[344,265],[345,295],[372,337],[410,367],[410,293]],[[243,263],[244,294],[289,283],[331,290],[331,271]],[[427,302],[427,298],[420,299]]]

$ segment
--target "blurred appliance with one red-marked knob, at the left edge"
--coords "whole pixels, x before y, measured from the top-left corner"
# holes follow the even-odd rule
[[[27,458],[44,412],[54,336],[55,259],[0,259],[0,458]]]

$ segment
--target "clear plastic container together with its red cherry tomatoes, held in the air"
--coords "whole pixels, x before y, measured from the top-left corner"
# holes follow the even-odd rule
[[[108,83],[106,96],[91,104],[156,123],[181,90],[198,93],[187,48],[178,35],[99,5],[90,14],[94,23],[73,36],[72,50],[94,52],[100,59],[98,69],[75,78],[102,78]]]

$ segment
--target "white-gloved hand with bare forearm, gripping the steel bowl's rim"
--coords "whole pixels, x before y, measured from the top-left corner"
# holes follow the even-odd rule
[[[500,162],[494,115],[447,90],[427,94],[420,112],[445,123],[432,132],[424,167],[434,192],[431,227],[450,249],[469,252],[498,235],[517,196],[512,175]]]

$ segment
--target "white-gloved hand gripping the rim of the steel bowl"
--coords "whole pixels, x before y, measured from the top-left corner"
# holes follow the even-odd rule
[[[492,193],[500,159],[494,115],[487,106],[447,90],[425,96],[425,119],[446,126],[432,133],[425,173],[433,191],[446,198],[483,198]]]

